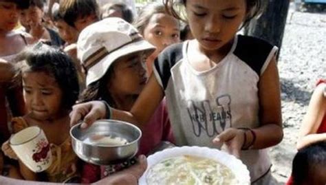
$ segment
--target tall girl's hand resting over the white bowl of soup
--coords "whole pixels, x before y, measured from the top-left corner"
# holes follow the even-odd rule
[[[241,147],[244,142],[244,131],[241,129],[226,129],[222,133],[216,136],[213,140],[214,144],[221,145],[225,144],[228,153],[235,155],[235,157],[240,157]]]

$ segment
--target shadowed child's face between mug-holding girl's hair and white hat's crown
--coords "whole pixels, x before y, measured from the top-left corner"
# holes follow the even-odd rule
[[[58,20],[55,24],[56,28],[58,28],[58,33],[63,41],[67,42],[69,45],[77,42],[78,32],[75,28],[68,25],[63,20]]]

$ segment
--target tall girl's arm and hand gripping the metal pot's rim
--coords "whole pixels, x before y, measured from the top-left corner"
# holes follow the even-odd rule
[[[110,118],[132,122],[141,128],[149,121],[163,97],[163,89],[152,74],[131,111],[120,111],[110,108]],[[84,124],[82,127],[85,128],[87,124],[92,124],[95,120],[106,118],[106,115],[107,111],[105,110],[104,103],[98,101],[86,102],[73,107],[72,113],[70,113],[70,122],[71,124],[76,124],[78,121],[83,120]]]

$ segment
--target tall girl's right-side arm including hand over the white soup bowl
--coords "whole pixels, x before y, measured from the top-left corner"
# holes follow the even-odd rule
[[[230,128],[213,140],[216,144],[225,143],[228,151],[239,157],[241,147],[250,146],[250,149],[265,149],[274,146],[283,139],[281,118],[281,95],[279,86],[279,72],[276,67],[276,58],[272,58],[259,80],[259,121],[260,127],[251,131]],[[244,137],[246,134],[246,140]],[[246,142],[246,143],[244,143]]]

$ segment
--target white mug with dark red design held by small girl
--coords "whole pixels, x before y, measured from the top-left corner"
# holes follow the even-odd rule
[[[45,171],[52,164],[50,143],[39,127],[28,127],[12,135],[9,140],[12,150],[31,171]]]

